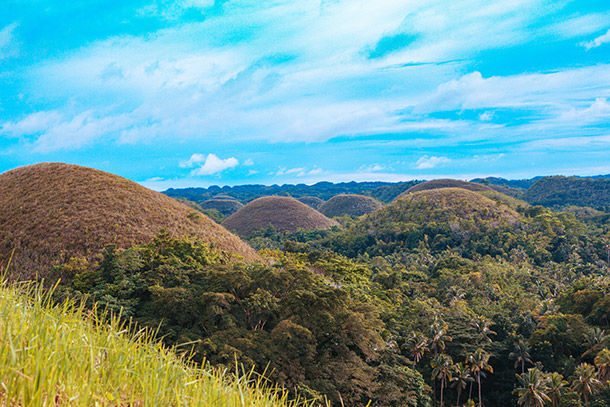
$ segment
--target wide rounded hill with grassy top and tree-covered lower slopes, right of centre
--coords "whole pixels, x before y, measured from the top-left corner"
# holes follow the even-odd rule
[[[421,245],[440,253],[502,253],[505,233],[523,216],[503,201],[462,188],[414,192],[365,215],[329,245],[349,257],[409,253]]]

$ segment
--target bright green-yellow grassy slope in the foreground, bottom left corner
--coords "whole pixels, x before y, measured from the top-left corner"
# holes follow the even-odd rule
[[[199,369],[142,332],[0,285],[2,406],[296,406],[247,377]]]

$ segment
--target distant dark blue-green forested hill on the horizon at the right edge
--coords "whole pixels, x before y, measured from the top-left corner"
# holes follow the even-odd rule
[[[563,207],[588,206],[608,210],[610,180],[604,178],[544,177],[537,180],[525,193],[532,205]]]

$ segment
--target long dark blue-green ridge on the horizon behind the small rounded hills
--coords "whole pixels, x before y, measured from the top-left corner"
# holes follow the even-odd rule
[[[359,194],[371,196],[381,202],[390,202],[395,197],[421,181],[408,182],[318,182],[314,185],[238,185],[211,186],[209,188],[170,188],[163,192],[172,198],[186,198],[201,204],[202,202],[226,194],[241,203],[248,203],[262,196],[291,196],[293,198],[316,197],[324,201],[339,194]]]

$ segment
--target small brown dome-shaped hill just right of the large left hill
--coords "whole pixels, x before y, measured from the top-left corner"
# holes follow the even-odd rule
[[[222,225],[240,236],[273,227],[281,232],[328,229],[338,223],[294,198],[265,196],[231,215]]]

